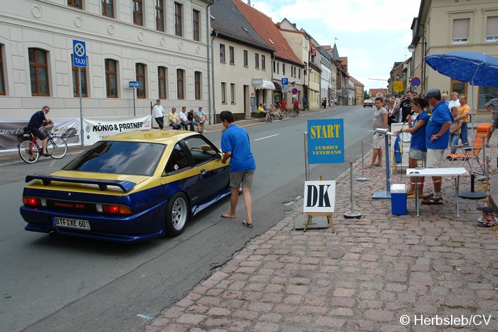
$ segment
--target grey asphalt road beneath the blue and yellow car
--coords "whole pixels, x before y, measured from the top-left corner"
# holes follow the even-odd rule
[[[143,326],[301,199],[308,119],[344,119],[346,162],[311,167],[311,179],[334,179],[361,156],[361,141],[370,141],[372,114],[370,108],[339,107],[247,127],[258,167],[251,189],[253,230],[240,224],[245,215],[242,200],[237,220],[219,217],[228,210],[226,199],[190,220],[179,237],[136,245],[26,232],[18,213],[23,178],[51,173],[71,156],[1,166],[1,331],[129,331]],[[206,136],[219,145],[219,132]]]

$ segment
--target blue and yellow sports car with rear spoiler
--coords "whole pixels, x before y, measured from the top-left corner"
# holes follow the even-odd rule
[[[26,182],[26,230],[115,242],[179,235],[191,216],[231,193],[221,151],[201,134],[176,130],[107,137]]]

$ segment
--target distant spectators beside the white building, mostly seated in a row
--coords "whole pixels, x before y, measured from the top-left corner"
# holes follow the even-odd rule
[[[161,106],[161,100],[156,100],[156,104],[152,107],[152,112],[154,114],[154,119],[159,126],[159,129],[164,128],[164,108]],[[191,108],[189,112],[186,111],[186,107],[181,107],[181,112],[176,113],[176,108],[171,108],[171,113],[168,114],[168,125],[173,129],[184,128],[188,130],[190,127],[191,132],[194,132],[197,127],[197,132],[206,132],[204,129],[204,124],[208,121],[208,117],[204,114],[202,106],[194,112]]]

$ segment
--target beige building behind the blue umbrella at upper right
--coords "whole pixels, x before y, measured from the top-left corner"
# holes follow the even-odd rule
[[[474,108],[489,116],[483,108],[485,102],[497,96],[495,87],[472,87],[468,83],[452,80],[425,64],[425,55],[467,50],[486,53],[498,58],[498,6],[494,0],[422,1],[418,17],[411,26],[413,41],[411,49],[411,76],[423,77],[417,92],[425,93],[431,88],[441,92],[456,91],[468,96],[475,95]],[[412,46],[410,45],[410,46]],[[472,102],[467,97],[467,102]],[[484,118],[483,118],[484,119]]]

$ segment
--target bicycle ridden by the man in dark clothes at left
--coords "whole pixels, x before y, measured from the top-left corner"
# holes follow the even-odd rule
[[[61,159],[68,153],[68,144],[60,136],[51,136],[48,134],[45,126],[41,127],[41,131],[48,137],[47,142],[47,153],[50,154],[53,159]],[[28,164],[34,164],[41,156],[42,149],[38,144],[38,139],[33,135],[28,127],[24,128],[23,134],[18,136],[19,144],[19,156],[24,162]]]

